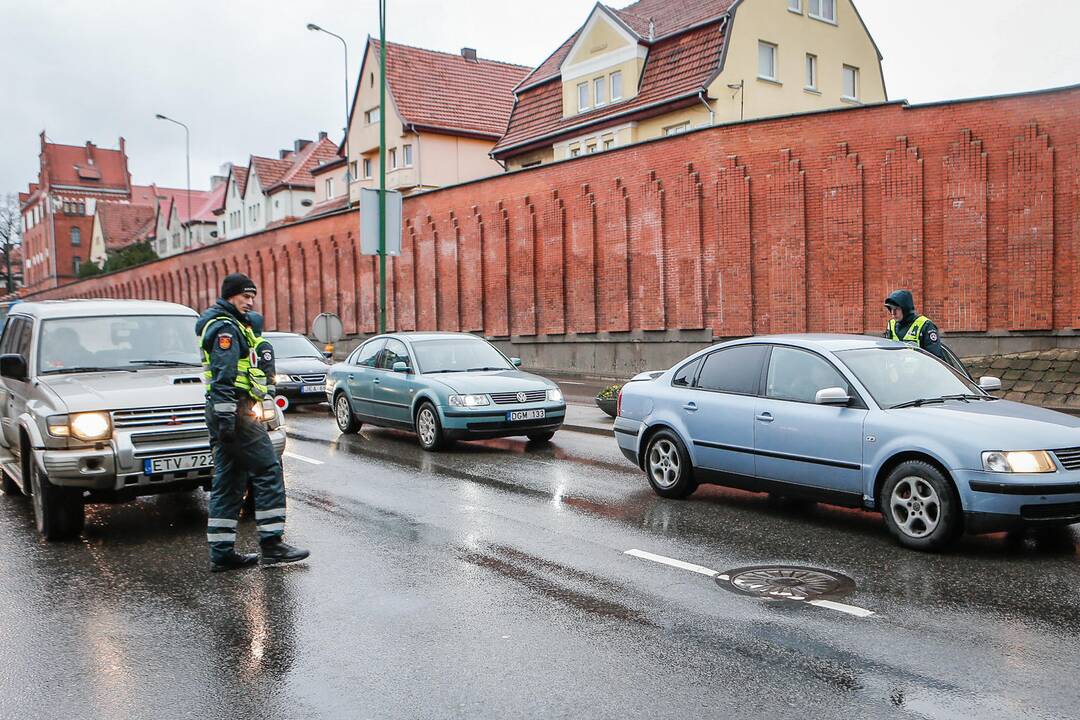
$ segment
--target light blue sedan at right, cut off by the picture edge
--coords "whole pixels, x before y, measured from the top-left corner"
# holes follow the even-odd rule
[[[615,433],[665,498],[714,483],[878,510],[918,549],[1080,521],[1080,418],[880,338],[748,338],[634,378]]]

